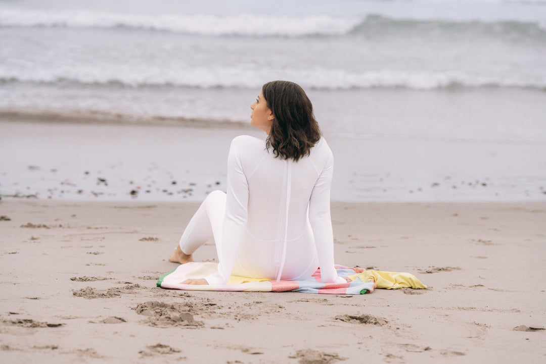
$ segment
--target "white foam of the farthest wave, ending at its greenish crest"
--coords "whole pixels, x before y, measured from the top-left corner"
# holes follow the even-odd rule
[[[334,35],[349,32],[358,17],[120,14],[105,11],[0,10],[1,27],[136,28],[203,35]]]

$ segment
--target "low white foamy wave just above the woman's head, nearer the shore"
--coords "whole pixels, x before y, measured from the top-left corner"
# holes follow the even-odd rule
[[[21,74],[8,74],[0,71],[0,84],[49,84],[57,86],[99,86],[117,88],[146,87],[181,87],[181,88],[240,88],[256,89],[268,80],[293,80],[310,89],[342,90],[367,88],[407,88],[415,90],[456,89],[456,88],[529,88],[546,90],[544,77],[506,77],[477,76],[458,71],[426,72],[377,70],[367,72],[348,72],[345,70],[316,69],[283,69],[256,70],[226,68],[176,70],[172,72],[155,72],[146,74],[140,70],[127,71],[118,69],[104,72],[80,69],[75,76],[73,70],[61,72],[41,71]]]

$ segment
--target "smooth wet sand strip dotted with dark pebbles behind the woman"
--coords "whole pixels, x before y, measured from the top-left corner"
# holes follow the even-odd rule
[[[246,126],[2,121],[0,128],[0,154],[9,156],[0,195],[68,200],[202,201],[225,191],[232,139],[265,138]],[[546,144],[324,135],[335,158],[333,201],[546,199]]]

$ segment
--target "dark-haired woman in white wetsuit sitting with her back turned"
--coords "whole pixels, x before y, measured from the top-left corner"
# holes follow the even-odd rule
[[[193,252],[213,236],[218,272],[182,283],[225,284],[230,275],[298,280],[318,266],[322,282],[346,283],[334,268],[334,159],[311,101],[297,84],[273,81],[251,108],[251,124],[268,137],[233,139],[227,195],[213,191],[206,197],[170,262],[193,262]]]

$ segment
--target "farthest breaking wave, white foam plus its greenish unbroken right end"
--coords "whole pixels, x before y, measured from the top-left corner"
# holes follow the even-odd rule
[[[120,14],[105,11],[0,10],[0,27],[128,28],[197,35],[288,36],[309,35],[443,35],[482,34],[500,37],[546,37],[546,23],[394,19],[367,16],[260,16]]]

